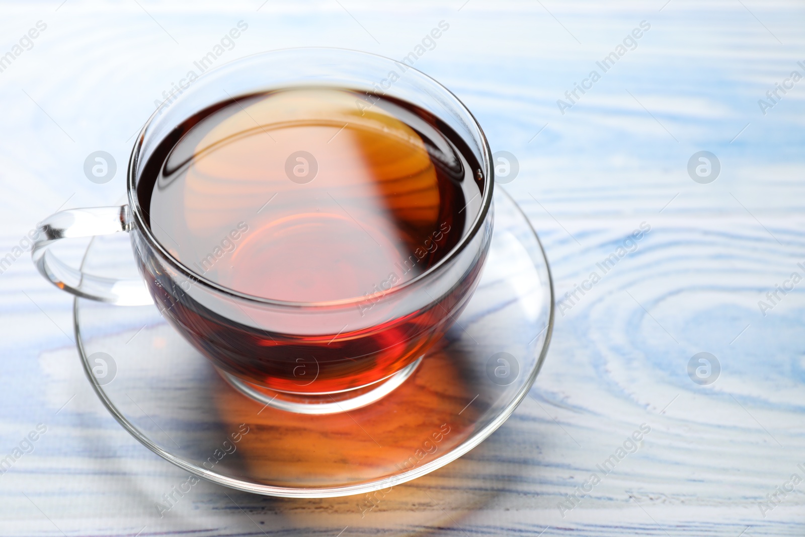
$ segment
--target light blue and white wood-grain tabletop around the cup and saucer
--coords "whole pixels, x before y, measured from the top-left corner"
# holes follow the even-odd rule
[[[0,458],[25,451],[0,475],[0,535],[805,533],[801,3],[60,2],[0,6],[0,54],[13,56],[0,57]],[[448,23],[416,66],[518,159],[505,188],[555,276],[555,333],[530,397],[480,447],[364,516],[362,498],[200,483],[160,518],[155,502],[187,475],[101,407],[72,299],[14,250],[60,207],[122,200],[154,101],[241,20],[221,63],[307,45],[401,58]],[[107,184],[82,169],[97,150],[118,163]],[[698,151],[720,163],[712,182],[688,173]],[[710,180],[713,165],[708,176],[695,159],[692,175]],[[689,374],[703,352],[716,360],[697,357]],[[717,379],[694,382],[697,368]]]

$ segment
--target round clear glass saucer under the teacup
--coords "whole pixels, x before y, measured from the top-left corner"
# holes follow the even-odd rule
[[[481,282],[456,325],[390,394],[338,414],[246,397],[155,306],[76,298],[90,382],[115,419],[165,460],[220,485],[289,498],[389,489],[456,460],[501,426],[539,373],[553,287],[539,238],[496,187]],[[93,239],[83,268],[136,274],[124,233]]]

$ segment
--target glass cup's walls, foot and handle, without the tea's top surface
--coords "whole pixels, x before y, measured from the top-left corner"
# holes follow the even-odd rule
[[[222,286],[180,262],[147,225],[138,191],[143,168],[160,143],[177,136],[200,110],[238,98],[299,86],[337,87],[411,103],[460,139],[477,169],[480,192],[462,209],[461,235],[427,271],[349,299],[291,302]],[[181,134],[181,133],[180,133]],[[172,139],[172,138],[171,138]],[[489,144],[469,110],[448,89],[407,64],[332,48],[298,48],[247,56],[187,82],[151,116],[131,152],[121,207],[69,209],[40,225],[32,257],[57,287],[85,299],[155,304],[167,321],[222,376],[254,399],[287,411],[348,411],[382,398],[419,365],[469,302],[493,229]],[[49,250],[62,238],[130,234],[142,279],[109,279],[68,266]],[[386,288],[388,287],[388,288]]]

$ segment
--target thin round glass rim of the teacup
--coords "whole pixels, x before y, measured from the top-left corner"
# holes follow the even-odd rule
[[[229,60],[225,64],[218,65],[215,68],[209,69],[207,72],[202,73],[197,80],[201,80],[204,77],[209,77],[225,68],[229,68],[232,64],[240,63],[244,60],[254,58],[255,56],[269,56],[275,55],[282,52],[291,52],[291,51],[324,51],[324,52],[349,52],[354,53],[359,56],[375,56],[381,58],[382,60],[389,61],[394,63],[395,60],[387,57],[382,56],[380,54],[374,54],[374,52],[364,52],[355,50],[352,48],[338,48],[338,47],[290,47],[290,48],[276,48],[270,51],[263,51],[263,52],[255,52],[254,54],[250,54],[248,56],[242,56],[240,58],[236,58],[234,60]],[[489,209],[492,205],[492,195],[493,195],[493,188],[494,188],[494,168],[492,166],[491,155],[492,151],[489,148],[489,141],[486,139],[486,134],[484,134],[484,130],[481,129],[480,123],[478,123],[477,118],[473,115],[473,113],[464,105],[455,93],[452,93],[448,88],[442,85],[439,81],[428,76],[419,69],[414,67],[409,67],[407,71],[413,71],[418,76],[423,77],[428,83],[436,85],[440,89],[444,90],[444,92],[448,93],[450,97],[456,100],[456,104],[460,111],[467,114],[469,118],[472,120],[472,126],[477,130],[477,134],[479,134],[481,138],[481,156],[482,162],[481,167],[485,168],[485,181],[484,181],[484,192],[481,196],[481,210],[478,211],[473,224],[469,230],[469,233],[464,235],[464,238],[461,238],[460,242],[453,246],[452,250],[448,252],[448,254],[436,262],[435,265],[428,267],[427,271],[424,271],[422,274],[416,276],[413,279],[408,280],[405,283],[402,283],[396,287],[391,287],[388,291],[382,292],[374,292],[367,295],[362,295],[358,297],[348,298],[348,299],[336,299],[336,300],[324,300],[324,301],[316,301],[316,302],[303,302],[303,301],[293,301],[293,300],[278,300],[278,299],[270,299],[263,296],[258,295],[250,295],[248,293],[243,293],[241,291],[235,291],[229,287],[225,287],[220,283],[213,282],[210,279],[204,278],[204,276],[197,274],[195,271],[192,271],[185,266],[184,263],[180,262],[180,260],[176,259],[170,252],[167,251],[166,248],[162,246],[162,244],[155,238],[154,234],[151,232],[151,228],[146,225],[145,220],[142,217],[142,212],[140,209],[139,200],[137,198],[137,188],[136,184],[134,184],[134,177],[136,176],[136,167],[138,163],[139,151],[142,149],[142,143],[144,141],[144,135],[148,130],[148,127],[151,126],[151,123],[155,121],[155,119],[159,116],[159,114],[163,111],[164,108],[167,108],[167,99],[162,102],[157,109],[151,114],[151,117],[148,118],[147,122],[142,126],[142,129],[139,131],[137,138],[134,139],[134,147],[132,147],[131,155],[129,157],[129,165],[126,171],[126,193],[129,200],[129,210],[131,217],[134,218],[134,221],[137,223],[137,227],[142,236],[146,239],[149,246],[154,248],[155,250],[159,251],[159,254],[162,255],[163,259],[167,261],[171,267],[175,270],[183,274],[184,276],[188,277],[194,281],[194,283],[203,283],[206,287],[212,287],[215,291],[220,292],[224,295],[229,295],[230,297],[246,300],[249,302],[256,302],[258,304],[266,304],[271,306],[278,306],[284,308],[341,308],[344,306],[350,305],[357,305],[364,303],[366,300],[369,299],[386,299],[391,295],[398,295],[398,293],[407,290],[408,287],[412,287],[417,283],[423,282],[423,280],[430,278],[434,273],[440,270],[443,266],[447,265],[449,262],[452,262],[454,258],[456,258],[464,248],[476,237],[478,231],[484,225],[486,221],[486,217],[489,213]]]

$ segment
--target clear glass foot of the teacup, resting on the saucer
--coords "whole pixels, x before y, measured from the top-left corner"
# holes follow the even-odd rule
[[[382,381],[333,394],[292,394],[287,391],[271,390],[246,382],[224,370],[218,368],[216,370],[229,383],[229,386],[266,407],[297,414],[324,415],[352,411],[386,397],[414,373],[422,362],[422,358],[420,356],[416,361]]]

